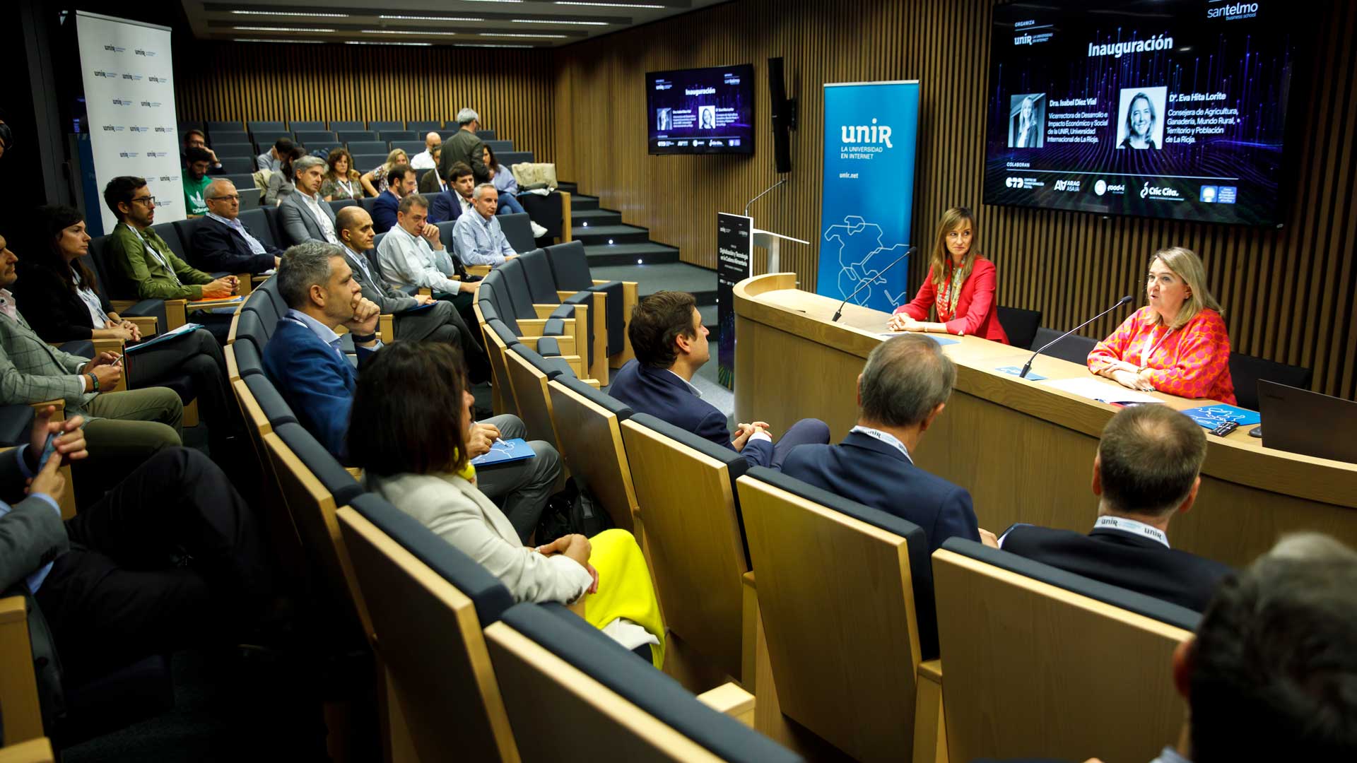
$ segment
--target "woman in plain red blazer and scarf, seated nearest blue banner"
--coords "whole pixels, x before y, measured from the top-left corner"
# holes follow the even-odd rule
[[[976,217],[965,206],[943,213],[938,224],[928,277],[915,300],[896,308],[886,324],[892,331],[974,334],[1008,343],[1008,334],[995,315],[995,263],[976,251]],[[938,323],[925,323],[928,308],[938,308]]]

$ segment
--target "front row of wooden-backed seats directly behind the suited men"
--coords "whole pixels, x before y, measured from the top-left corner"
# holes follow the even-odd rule
[[[489,299],[478,293],[482,308]],[[531,436],[551,439],[613,524],[642,543],[669,658],[740,680],[757,698],[760,732],[816,758],[915,749],[916,760],[1094,751],[1149,759],[1177,739],[1182,702],[1170,654],[1196,612],[961,539],[930,559],[917,525],[746,470],[740,453],[632,413],[535,362],[522,343],[506,348],[495,320],[482,330],[499,356],[495,384],[512,392]],[[1101,644],[1076,633],[1099,633]],[[1107,644],[1136,657],[1109,668]],[[1031,680],[1006,684],[988,672],[1010,663]],[[1137,733],[1111,741],[1096,730],[1107,699],[1095,699],[1109,684],[1137,698],[1115,701]]]

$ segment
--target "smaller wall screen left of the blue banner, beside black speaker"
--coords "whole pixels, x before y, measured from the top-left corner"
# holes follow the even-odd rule
[[[646,75],[650,153],[753,153],[754,68]]]

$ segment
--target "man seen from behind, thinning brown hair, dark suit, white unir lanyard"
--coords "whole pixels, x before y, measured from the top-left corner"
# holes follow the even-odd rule
[[[1139,591],[1194,612],[1206,608],[1229,567],[1168,546],[1168,520],[1197,500],[1206,434],[1167,406],[1117,411],[1094,456],[1098,520],[1088,535],[1011,527],[1006,551]]]

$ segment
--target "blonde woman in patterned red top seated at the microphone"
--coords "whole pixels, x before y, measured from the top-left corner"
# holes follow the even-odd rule
[[[1201,259],[1183,247],[1155,253],[1145,296],[1149,304],[1088,353],[1088,371],[1132,390],[1235,405],[1229,335]]]

